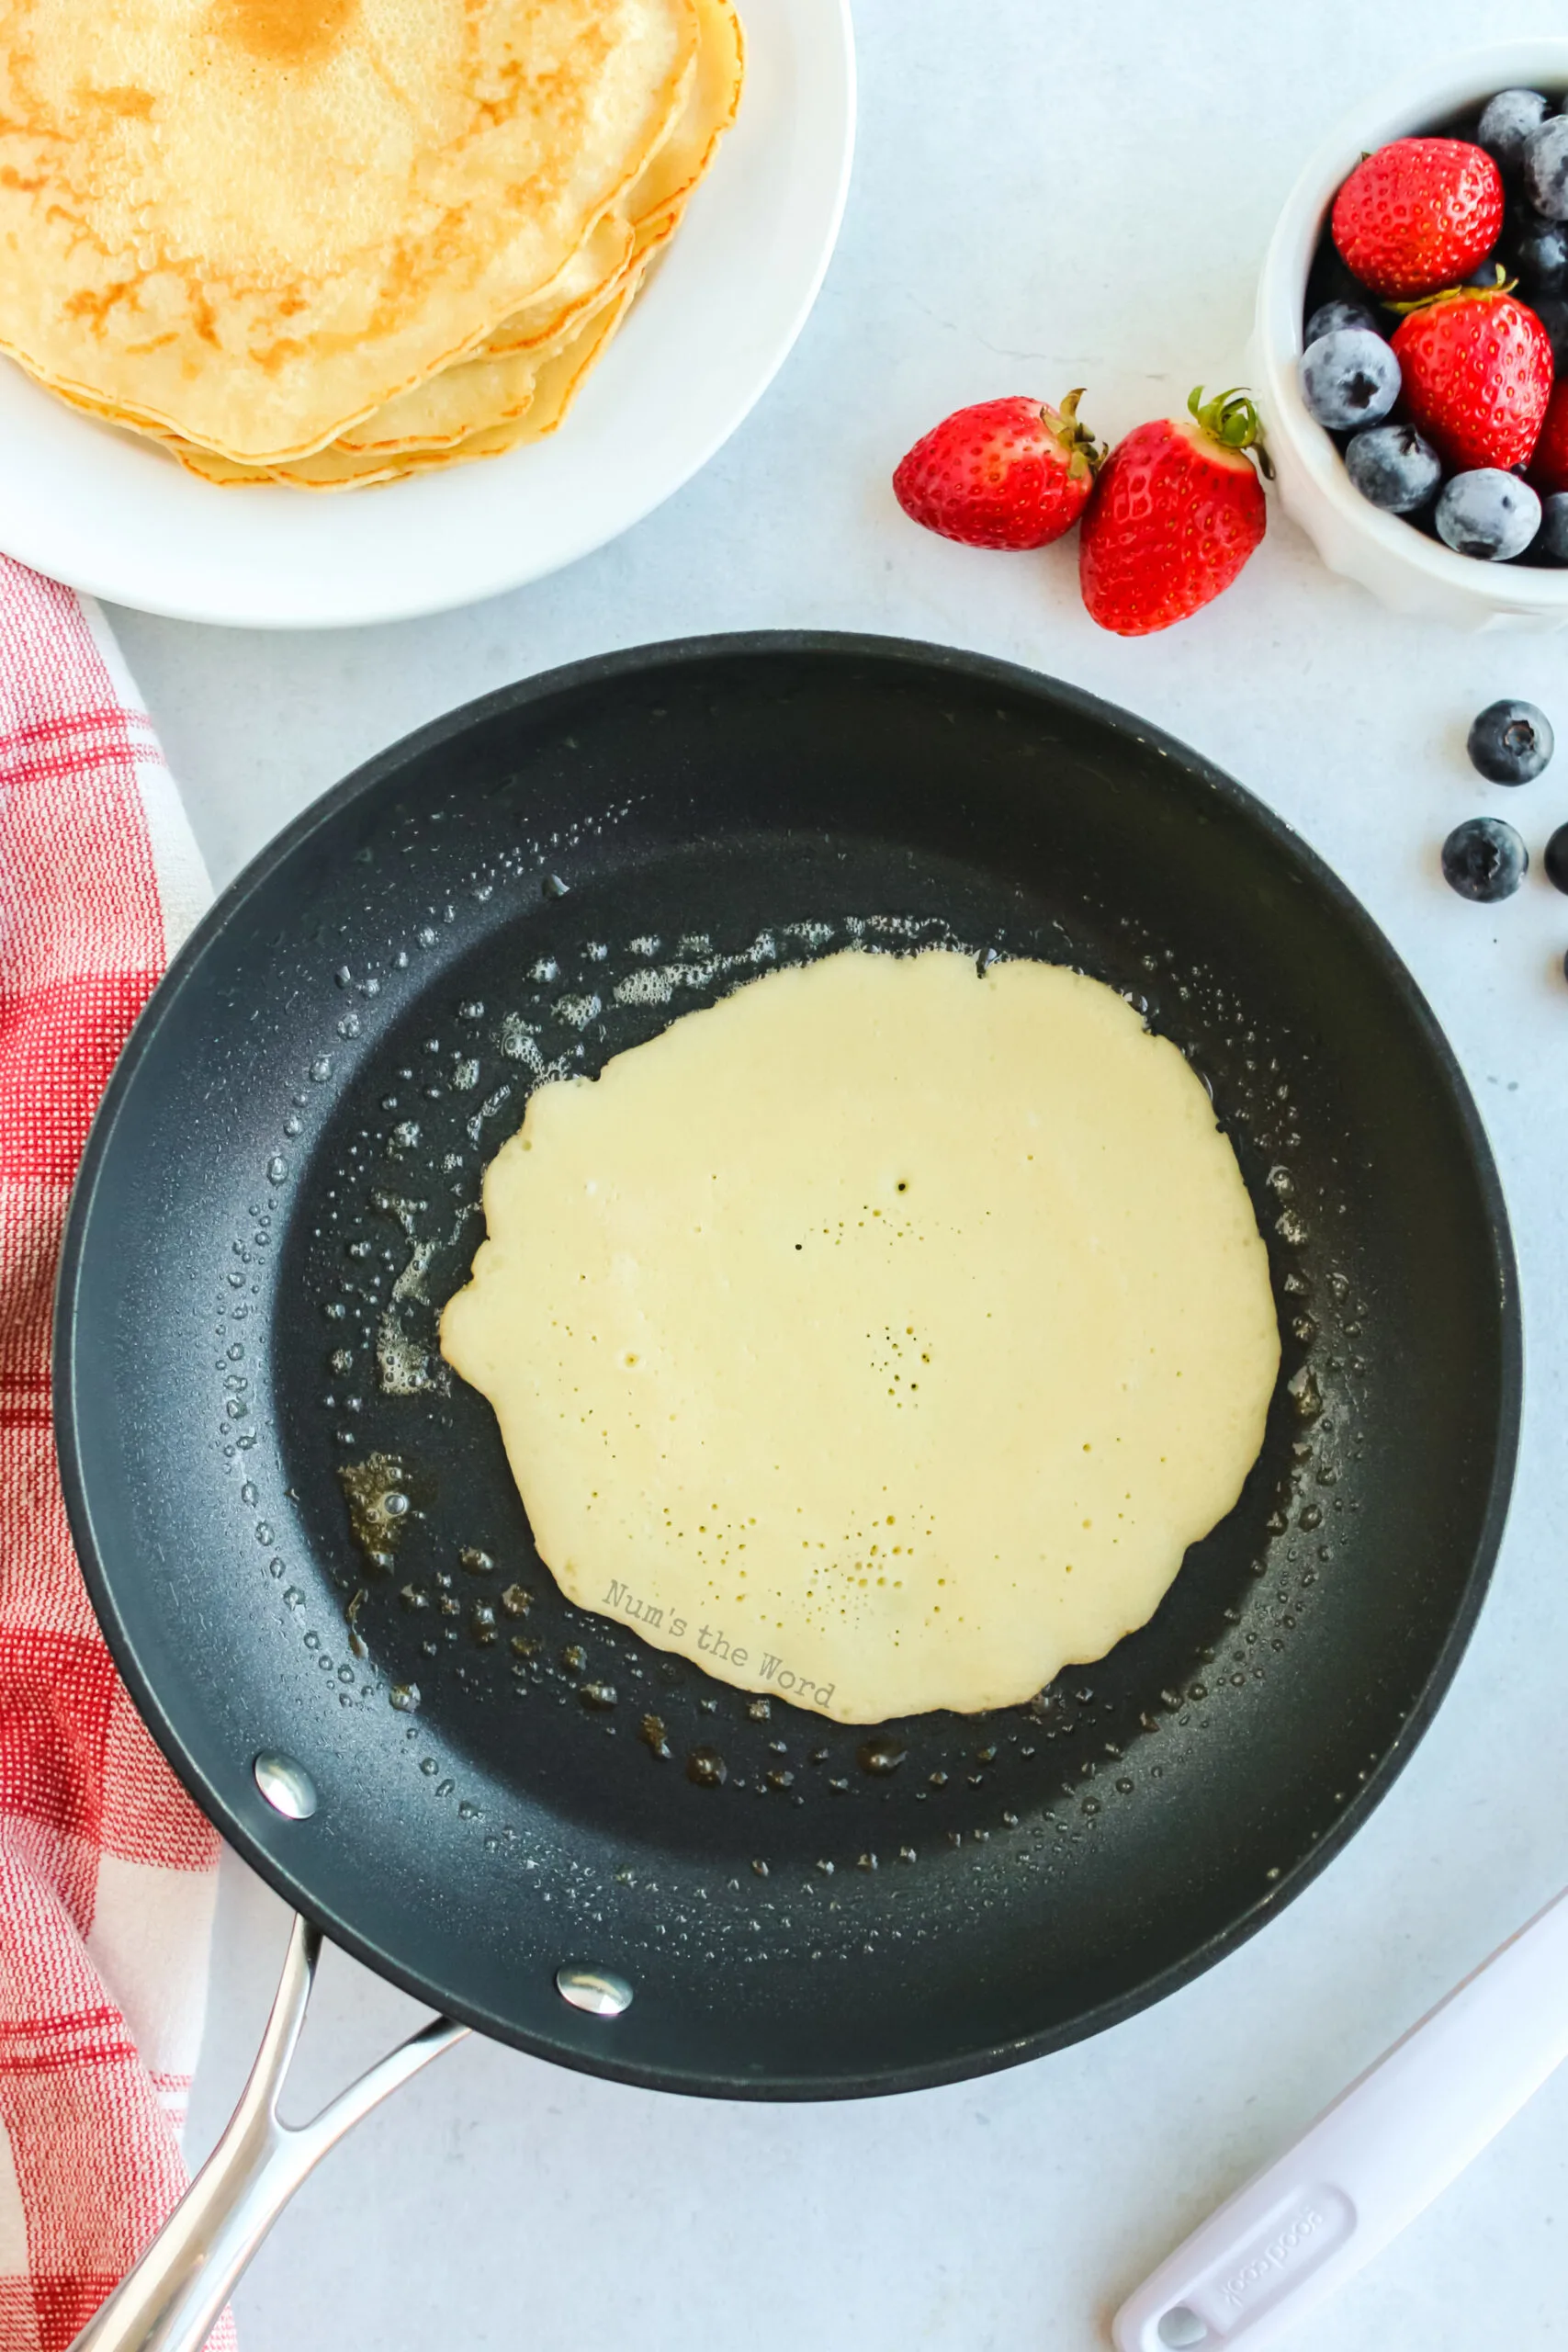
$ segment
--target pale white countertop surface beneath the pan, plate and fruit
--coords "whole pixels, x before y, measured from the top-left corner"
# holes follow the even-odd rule
[[[1512,0],[1490,38],[1556,31]],[[1119,2298],[1568,1877],[1568,637],[1455,637],[1319,569],[1276,517],[1241,583],[1145,642],[1100,635],[1072,548],[976,555],[886,477],[950,407],[1058,397],[1117,435],[1232,383],[1274,209],[1305,151],[1467,0],[1220,9],[858,0],[860,153],[839,256],[771,395],[679,499],[602,555],[473,612],[348,635],[115,614],[226,882],[367,753],[527,670],[755,626],[936,637],[1093,687],[1281,809],[1439,1009],[1490,1127],[1528,1327],[1519,1486],[1493,1597],[1413,1764],[1326,1875],[1185,1992],[1063,2056],[947,2091],[724,2107],[470,2042],[301,2192],[237,2296],[244,2352],[1091,2352]],[[1234,33],[1225,26],[1234,24]],[[1556,720],[1542,781],[1465,762],[1497,694]],[[1507,814],[1535,870],[1460,903],[1436,847]],[[1441,1279],[1441,1268],[1432,1268]],[[282,1915],[226,1867],[193,2145],[254,2049]],[[414,2004],[329,1957],[303,2079],[327,2089]],[[1314,2352],[1568,2343],[1568,2077],[1312,2328]]]

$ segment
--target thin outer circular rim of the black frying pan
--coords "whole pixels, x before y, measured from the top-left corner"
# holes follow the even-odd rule
[[[1335,1818],[1333,1828],[1326,1830],[1316,1844],[1291,1867],[1288,1877],[1279,1886],[1267,1889],[1251,1903],[1229,1926],[1218,1929],[1213,1936],[1204,1938],[1178,1962],[1161,1969],[1157,1976],[1147,1978],[1138,1987],[1107,1999],[1088,2011],[1081,2011],[1065,2027],[1044,2027],[1034,2034],[1018,2039],[983,2044],[978,2049],[966,2049],[950,2053],[947,2058],[926,2060],[919,2065],[882,2070],[875,2074],[832,2074],[832,2077],[722,2077],[675,2065],[651,2065],[646,2060],[628,2063],[618,2060],[614,2046],[599,2051],[567,2049],[550,2042],[545,2034],[527,2032],[515,2027],[510,2020],[496,2018],[480,2004],[449,1999],[447,1987],[423,1969],[411,1969],[400,1962],[395,1952],[376,1945],[374,1938],[360,1933],[346,1919],[339,1919],[331,1900],[322,1900],[296,1872],[287,1867],[277,1856],[273,1856],[259,1837],[247,1828],[244,1818],[223,1799],[223,1795],[207,1780],[200,1764],[186,1750],[179,1726],[167,1715],[162,1698],[155,1686],[155,1677],[143,1668],[136,1637],[127,1625],[118,1597],[115,1597],[115,1571],[108,1566],[106,1548],[99,1545],[99,1534],[94,1526],[92,1501],[87,1494],[87,1472],[82,1465],[82,1432],[78,1425],[78,1359],[75,1359],[75,1331],[78,1331],[78,1294],[82,1284],[82,1261],[92,1228],[92,1211],[103,1169],[113,1155],[113,1138],[120,1115],[136,1084],[136,1073],[146,1056],[150,1054],[162,1018],[188,985],[190,976],[200,967],[209,948],[223,936],[223,931],[235,922],[235,917],[247,908],[254,894],[270,880],[270,875],[292,861],[324,826],[334,823],[339,814],[353,807],[357,800],[376,793],[388,779],[414,762],[423,762],[430,753],[437,753],[444,743],[482,727],[491,717],[510,710],[522,710],[534,703],[545,703],[552,696],[578,694],[585,687],[599,687],[635,675],[656,675],[661,670],[675,668],[701,668],[715,661],[755,661],[766,656],[825,656],[844,661],[877,661],[907,666],[922,673],[950,673],[966,684],[990,684],[1004,689],[1013,696],[1025,696],[1046,708],[1067,710],[1077,720],[1086,720],[1103,727],[1110,736],[1131,739],[1140,753],[1157,753],[1171,760],[1178,769],[1211,790],[1232,814],[1244,823],[1255,826],[1269,844],[1284,854],[1286,863],[1293,866],[1307,887],[1316,889],[1333,908],[1333,913],[1349,927],[1359,946],[1371,955],[1382,978],[1392,985],[1394,995],[1403,1002],[1406,1011],[1413,1016],[1434,1063],[1434,1075],[1443,1087],[1453,1110],[1458,1112],[1460,1131],[1467,1145],[1469,1164],[1479,1183],[1479,1192],[1486,1211],[1486,1228],[1490,1247],[1495,1254],[1497,1282],[1500,1282],[1500,1383],[1497,1383],[1497,1423],[1495,1423],[1495,1449],[1493,1449],[1493,1475],[1488,1486],[1486,1515],[1481,1519],[1481,1531],[1474,1548],[1474,1559],[1460,1606],[1455,1609],[1448,1635],[1439,1649],[1439,1656],[1427,1675],[1427,1682],[1406,1715],[1396,1738],[1380,1757],[1380,1762],[1368,1771],[1366,1783]],[[917,637],[884,637],[877,633],[858,630],[736,630],[715,633],[703,637],[675,637],[663,642],[618,647],[607,654],[592,654],[583,661],[562,663],[552,670],[541,670],[531,677],[515,680],[508,687],[498,687],[491,694],[477,696],[475,701],[461,703],[456,710],[447,710],[430,720],[425,727],[400,736],[386,750],[374,753],[360,767],[355,767],[341,783],[331,786],[317,800],[313,800],[299,816],[292,818],[242,870],[233,882],[214,898],[212,908],[202,915],[197,927],[190,931],[179,955],[172,960],[162,981],[148,997],[132,1035],[110,1073],[103,1101],[92,1122],[87,1136],[87,1148],[82,1152],[82,1164],[71,1192],[71,1209],[66,1221],[66,1235],[61,1244],[59,1275],[54,1289],[54,1343],[52,1343],[52,1390],[54,1390],[54,1442],[59,1456],[59,1475],[66,1498],[66,1515],[71,1534],[75,1541],[78,1559],[82,1564],[82,1576],[87,1583],[87,1595],[92,1599],[96,1621],[108,1642],[115,1668],[120,1670],[127,1691],[148,1726],[153,1740],[167,1757],[176,1778],[183,1783],[188,1795],[195,1799],[200,1811],[214,1828],[228,1839],[228,1844],[249,1863],[256,1875],[273,1886],[284,1903],[310,1919],[331,1943],[350,1952],[376,1976],[409,1992],[414,1999],[456,2018],[463,2025],[473,2025],[477,2032],[489,2034],[512,2049],[522,2049],[534,2058],[545,2058],[555,2065],[567,2065],[576,2072],[599,2074],[609,2082],[625,2082],[651,2091],[675,2091],[696,2098],[745,2098],[745,2100],[783,2100],[783,2103],[806,2103],[806,2100],[837,2100],[837,2098],[875,2098],[891,2096],[898,2091],[933,2089],[938,2084],[966,2082],[978,2074],[990,2074],[1006,2065],[1020,2065],[1027,2058],[1041,2058],[1051,2051],[1067,2049],[1074,2042],[1084,2042],[1091,2034],[1105,2032],[1112,2025],[1124,2023],[1138,2011],[1154,2006],[1171,1992],[1192,1983],[1206,1969],[1215,1966],[1220,1959],[1229,1957],[1251,1936],[1258,1933],[1286,1903],[1295,1900],[1326,1865],[1340,1853],[1349,1839],[1363,1828],[1375,1806],[1387,1797],[1389,1788],[1399,1773],[1410,1762],[1410,1755],[1420,1745],[1425,1731],[1429,1729],[1441,1700],[1446,1698],[1453,1677],[1458,1672],[1460,1658],[1469,1644],[1481,1604],[1490,1588],[1493,1566],[1497,1559],[1497,1548],[1502,1541],[1502,1526],[1507,1519],[1514,1463],[1519,1454],[1519,1421],[1521,1421],[1521,1388],[1523,1388],[1523,1319],[1519,1301],[1519,1275],[1516,1256],[1512,1242],[1512,1228],[1507,1216],[1507,1204],[1502,1195],[1502,1183],[1490,1152],[1486,1127],[1481,1112],[1469,1091],[1465,1073],[1460,1070],[1458,1056],[1443,1035],[1443,1028],[1427,1004],[1420,985],[1415,983],[1408,967],[1396,955],[1392,941],[1380,931],[1373,917],[1366,913],[1354,891],[1333,873],[1333,868],[1312,849],[1312,844],[1291,826],[1284,816],[1269,809],[1262,800],[1237,783],[1234,776],[1215,767],[1201,753],[1192,750],[1180,739],[1166,734],[1161,727],[1138,720],[1133,713],[1121,710],[1117,703],[1107,703],[1098,694],[1088,694],[1084,687],[1074,687],[1067,680],[1051,677],[1044,670],[1030,670],[1023,663],[1001,661],[992,654],[978,654],[964,647],[929,644]],[[127,1588],[132,1578],[120,1578]],[[306,1828],[306,1825],[301,1825]]]

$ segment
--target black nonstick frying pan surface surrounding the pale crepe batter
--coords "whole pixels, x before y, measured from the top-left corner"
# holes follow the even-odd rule
[[[877,1740],[571,1609],[433,1355],[541,1070],[856,941],[1133,997],[1234,1138],[1286,1348],[1241,1503],[1143,1632]],[[1354,898],[1154,729],[875,637],[614,654],[329,793],[139,1023],[59,1289],[92,1597],[223,1835],[449,2018],[729,2098],[1032,2058],[1269,1919],[1455,1670],[1516,1411],[1493,1162]]]

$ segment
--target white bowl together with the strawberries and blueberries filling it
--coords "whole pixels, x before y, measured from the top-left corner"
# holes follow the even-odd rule
[[[1568,40],[1427,73],[1319,151],[1265,259],[1279,496],[1403,612],[1568,623],[1566,96]]]

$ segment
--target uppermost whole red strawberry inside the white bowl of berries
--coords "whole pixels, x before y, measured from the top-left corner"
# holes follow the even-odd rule
[[[1373,294],[1434,294],[1486,261],[1502,230],[1502,174],[1467,139],[1394,139],[1333,200],[1333,242]]]

